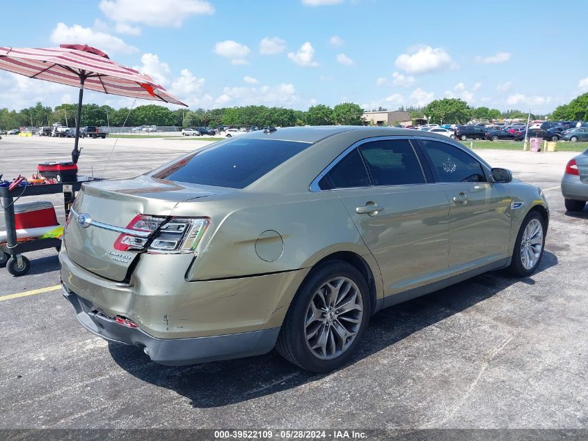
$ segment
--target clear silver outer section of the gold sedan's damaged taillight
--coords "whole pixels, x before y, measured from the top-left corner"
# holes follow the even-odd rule
[[[210,224],[207,217],[172,217],[162,225],[147,252],[150,254],[192,253]]]

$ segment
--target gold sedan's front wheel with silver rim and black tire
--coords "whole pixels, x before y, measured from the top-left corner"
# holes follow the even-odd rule
[[[545,249],[545,230],[545,219],[538,211],[532,210],[525,216],[514,243],[511,274],[528,277],[537,270]]]

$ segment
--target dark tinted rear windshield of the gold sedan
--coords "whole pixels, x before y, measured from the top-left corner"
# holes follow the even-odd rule
[[[170,164],[154,178],[244,188],[312,144],[276,139],[232,139]]]

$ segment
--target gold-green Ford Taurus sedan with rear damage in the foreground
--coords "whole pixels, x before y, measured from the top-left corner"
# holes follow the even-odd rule
[[[84,184],[61,280],[82,326],[154,362],[276,347],[326,372],[349,361],[383,307],[488,270],[528,277],[548,213],[541,189],[447,137],[257,131]]]

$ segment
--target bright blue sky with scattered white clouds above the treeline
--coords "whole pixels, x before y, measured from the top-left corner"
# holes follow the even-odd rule
[[[541,0],[10,1],[0,45],[93,45],[192,109],[397,109],[456,97],[543,113],[588,91],[584,11],[582,0],[561,11]],[[10,109],[77,98],[74,88],[6,72],[0,84],[0,107]],[[85,102],[132,100],[87,93]]]

